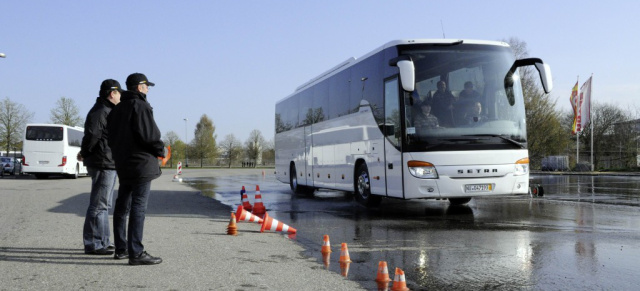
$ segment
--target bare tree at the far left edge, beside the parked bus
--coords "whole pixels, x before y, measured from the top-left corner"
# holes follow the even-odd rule
[[[12,148],[20,148],[27,123],[33,118],[33,112],[6,97],[0,102],[0,144],[5,146],[7,155]]]

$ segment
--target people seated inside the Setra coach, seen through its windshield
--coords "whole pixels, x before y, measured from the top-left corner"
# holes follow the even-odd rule
[[[480,93],[472,82],[464,84],[464,90],[455,97],[447,90],[447,83],[439,81],[438,90],[432,96],[417,102],[413,114],[413,126],[417,128],[438,128],[457,125],[472,125],[487,120],[482,112]]]

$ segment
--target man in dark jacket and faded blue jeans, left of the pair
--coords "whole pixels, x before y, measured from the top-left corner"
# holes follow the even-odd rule
[[[122,87],[113,79],[100,85],[99,96],[84,123],[84,137],[78,160],[84,161],[91,176],[91,196],[84,220],[84,252],[92,255],[113,254],[109,232],[109,208],[116,185],[116,165],[107,144],[107,116],[120,102]]]

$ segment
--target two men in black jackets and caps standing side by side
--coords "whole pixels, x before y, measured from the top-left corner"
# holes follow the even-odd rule
[[[78,160],[84,161],[91,176],[83,227],[84,252],[129,259],[130,265],[159,264],[162,259],[149,255],[142,245],[151,181],[162,174],[157,157],[164,157],[160,130],[147,102],[149,88],[155,84],[144,74],[133,73],[126,85],[124,91],[118,81],[104,80],[85,120],[78,153]],[[116,175],[120,188],[113,213],[113,244],[109,208]]]

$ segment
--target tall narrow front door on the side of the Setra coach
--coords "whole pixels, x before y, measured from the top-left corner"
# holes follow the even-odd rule
[[[403,197],[402,193],[402,152],[400,140],[402,127],[400,123],[400,89],[398,77],[388,79],[384,83],[384,135],[385,135],[385,177],[387,196]]]

